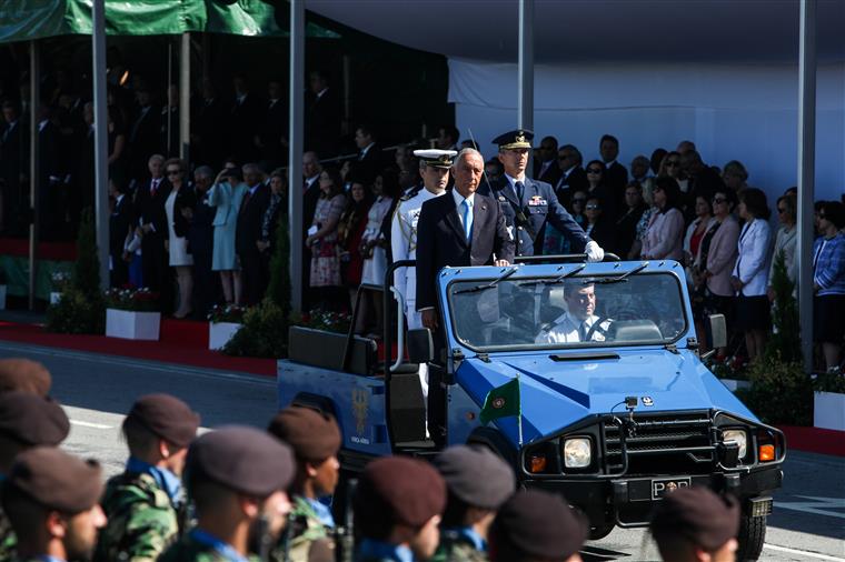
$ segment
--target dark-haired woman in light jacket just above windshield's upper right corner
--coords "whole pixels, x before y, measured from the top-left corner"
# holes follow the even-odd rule
[[[680,261],[684,217],[678,210],[680,191],[677,182],[672,178],[658,178],[653,197],[657,212],[652,215],[643,240],[643,259]]]

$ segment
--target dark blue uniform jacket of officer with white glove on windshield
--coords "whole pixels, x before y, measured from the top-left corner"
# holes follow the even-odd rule
[[[490,185],[491,193],[489,193],[501,204],[505,222],[513,229],[516,254],[543,253],[546,222],[550,222],[571,242],[573,251],[581,251],[589,238],[557,200],[551,185],[530,178],[526,178],[524,183],[525,191],[521,201],[517,201],[516,193],[506,177],[493,182]],[[484,194],[488,193],[485,192]],[[519,224],[518,210],[523,212],[530,228]]]

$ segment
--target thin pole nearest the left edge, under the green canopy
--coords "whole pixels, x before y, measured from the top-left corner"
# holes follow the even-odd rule
[[[41,189],[40,155],[38,151],[38,112],[41,99],[41,64],[38,41],[29,42],[29,207],[32,221],[29,223],[29,310],[36,307],[38,229],[40,228],[40,202],[38,191]],[[21,100],[23,101],[23,100]]]

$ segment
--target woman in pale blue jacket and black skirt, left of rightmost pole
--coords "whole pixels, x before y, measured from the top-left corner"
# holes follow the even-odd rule
[[[739,218],[745,221],[737,243],[738,257],[730,284],[736,291],[736,329],[745,332],[748,359],[763,354],[769,329],[766,298],[772,231],[766,194],[748,188],[739,193]]]

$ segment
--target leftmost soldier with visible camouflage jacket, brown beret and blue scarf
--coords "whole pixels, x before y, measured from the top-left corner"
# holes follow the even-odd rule
[[[109,480],[96,561],[156,559],[185,526],[181,475],[199,414],[170,394],[148,394],[123,420],[126,470]]]

